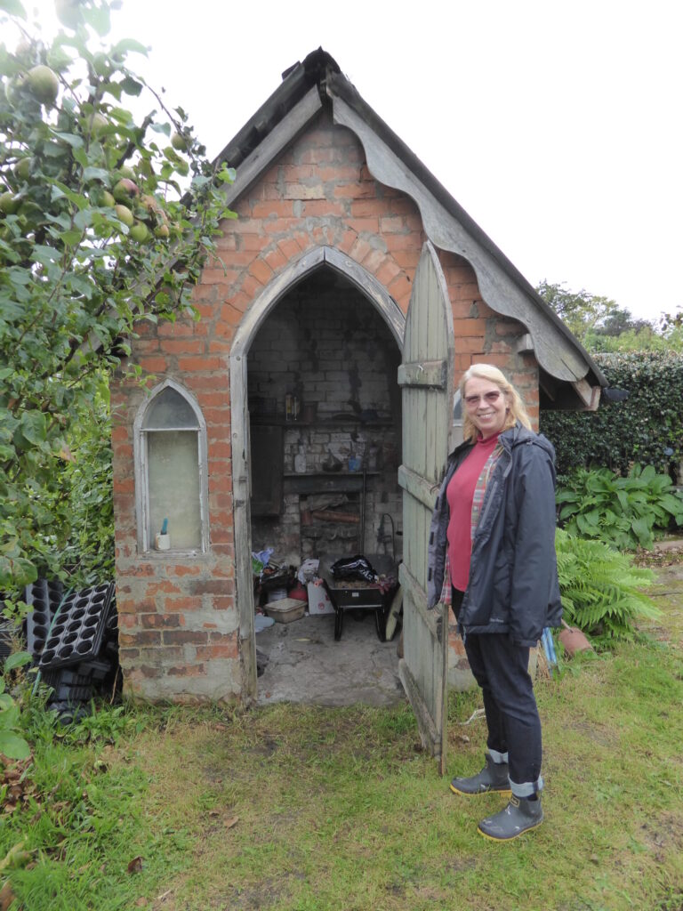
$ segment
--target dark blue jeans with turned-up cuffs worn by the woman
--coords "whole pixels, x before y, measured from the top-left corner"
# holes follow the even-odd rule
[[[453,589],[453,594],[457,617],[463,592]],[[543,781],[541,720],[528,671],[529,650],[515,645],[507,633],[467,633],[464,650],[484,695],[488,748],[508,753],[513,792],[530,796]]]

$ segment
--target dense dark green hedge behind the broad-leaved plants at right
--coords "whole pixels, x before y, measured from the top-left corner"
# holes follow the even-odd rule
[[[654,466],[673,479],[683,460],[683,355],[672,352],[597,354],[610,386],[628,390],[624,402],[595,412],[541,412],[542,432],[556,447],[557,471],[606,466]]]

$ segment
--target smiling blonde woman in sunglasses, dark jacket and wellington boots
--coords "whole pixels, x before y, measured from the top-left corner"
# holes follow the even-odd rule
[[[497,367],[460,383],[464,443],[448,457],[429,543],[429,605],[451,600],[488,726],[484,769],[457,794],[499,791],[504,810],[478,831],[506,841],[543,822],[541,722],[527,667],[562,617],[555,554],[555,451],[531,430]]]

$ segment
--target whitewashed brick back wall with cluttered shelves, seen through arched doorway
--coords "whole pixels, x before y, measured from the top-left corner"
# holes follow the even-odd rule
[[[399,363],[381,314],[329,268],[270,312],[248,360],[252,550],[401,558]]]

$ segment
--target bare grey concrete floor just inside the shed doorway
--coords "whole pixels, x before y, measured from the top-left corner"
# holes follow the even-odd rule
[[[268,656],[259,678],[259,703],[381,706],[405,701],[397,644],[398,636],[392,642],[378,639],[371,612],[346,611],[338,642],[334,615],[275,623],[256,634],[257,650]]]

